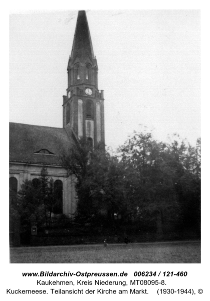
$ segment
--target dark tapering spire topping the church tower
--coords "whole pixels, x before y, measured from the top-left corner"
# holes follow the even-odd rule
[[[92,60],[95,59],[86,12],[79,11],[71,59],[74,60],[75,57],[79,57],[80,61],[82,62],[87,58],[87,56],[89,56]]]

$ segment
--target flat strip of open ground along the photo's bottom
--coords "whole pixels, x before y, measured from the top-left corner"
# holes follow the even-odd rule
[[[200,263],[200,242],[11,248],[11,263]]]

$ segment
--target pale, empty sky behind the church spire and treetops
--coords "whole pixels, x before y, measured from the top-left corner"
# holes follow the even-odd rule
[[[200,136],[200,11],[88,10],[105,142],[143,127],[156,139]],[[10,15],[10,121],[62,127],[77,11]],[[141,125],[140,125],[141,124]]]

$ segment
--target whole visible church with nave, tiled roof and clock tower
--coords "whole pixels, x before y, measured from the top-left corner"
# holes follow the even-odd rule
[[[80,137],[86,137],[92,146],[105,143],[104,95],[98,89],[98,65],[85,11],[78,13],[67,72],[63,128],[10,123],[10,200],[25,180],[36,182],[45,166],[59,198],[55,213],[71,216],[77,197],[74,181],[66,178],[60,155]]]

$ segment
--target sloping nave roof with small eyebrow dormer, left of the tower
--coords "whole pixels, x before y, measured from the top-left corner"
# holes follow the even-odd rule
[[[61,165],[74,143],[65,128],[10,122],[10,161]]]

